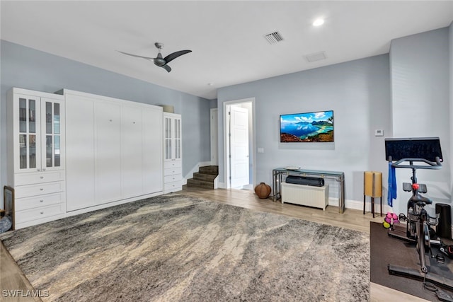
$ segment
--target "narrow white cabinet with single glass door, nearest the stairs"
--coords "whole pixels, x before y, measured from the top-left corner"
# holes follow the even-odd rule
[[[164,112],[164,194],[183,190],[181,116]]]

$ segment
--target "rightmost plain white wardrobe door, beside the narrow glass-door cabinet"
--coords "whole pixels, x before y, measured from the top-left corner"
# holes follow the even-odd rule
[[[144,193],[164,189],[162,112],[143,110],[143,183]]]

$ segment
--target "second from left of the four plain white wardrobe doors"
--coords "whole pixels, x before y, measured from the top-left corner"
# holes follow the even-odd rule
[[[121,106],[95,102],[95,199],[103,204],[121,197]]]

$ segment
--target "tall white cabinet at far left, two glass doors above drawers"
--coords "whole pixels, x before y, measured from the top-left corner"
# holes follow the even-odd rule
[[[7,93],[8,185],[15,228],[64,216],[64,98],[12,88]]]

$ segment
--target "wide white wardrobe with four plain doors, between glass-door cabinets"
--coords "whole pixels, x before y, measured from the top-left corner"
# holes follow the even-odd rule
[[[67,211],[162,194],[162,108],[78,91],[63,93]]]

